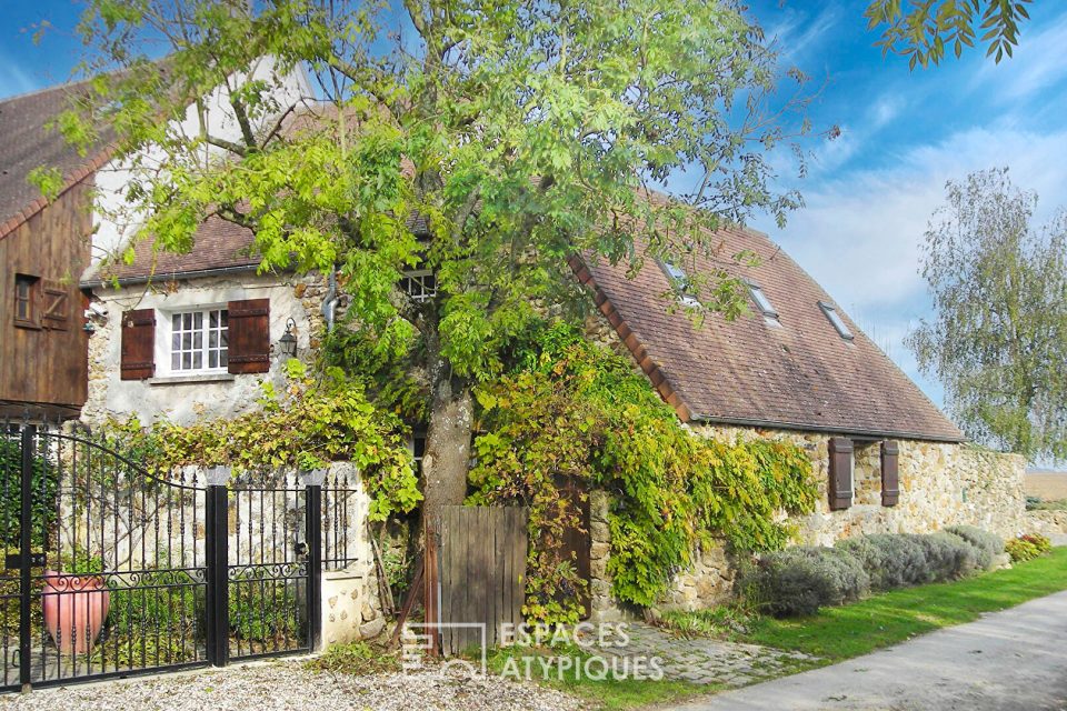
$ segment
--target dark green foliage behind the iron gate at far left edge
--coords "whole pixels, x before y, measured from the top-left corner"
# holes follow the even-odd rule
[[[0,438],[0,472],[8,485],[0,492],[0,520],[4,522],[6,543],[18,545],[22,514],[22,445],[18,440]],[[30,543],[34,549],[47,545],[48,532],[56,521],[56,490],[58,474],[49,474],[48,462],[36,457],[32,464],[32,487],[30,497],[32,521]]]

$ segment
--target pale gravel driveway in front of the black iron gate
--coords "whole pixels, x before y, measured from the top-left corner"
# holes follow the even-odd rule
[[[349,677],[311,672],[301,661],[287,660],[4,694],[0,710],[8,709],[577,711],[581,703],[557,691],[496,677],[469,680],[433,672]]]

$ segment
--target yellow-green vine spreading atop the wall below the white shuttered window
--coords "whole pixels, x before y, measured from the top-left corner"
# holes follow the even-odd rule
[[[371,404],[362,385],[338,369],[311,375],[293,359],[286,369],[285,392],[265,383],[258,412],[189,427],[112,422],[112,438],[136,452],[150,472],[163,475],[182,465],[312,470],[350,461],[372,498],[371,520],[411,511],[422,497],[399,418]]]

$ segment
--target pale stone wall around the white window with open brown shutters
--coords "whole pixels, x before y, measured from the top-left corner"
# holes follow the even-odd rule
[[[203,419],[232,418],[258,407],[263,381],[282,384],[281,358],[271,357],[270,371],[258,374],[182,377],[166,372],[159,348],[157,377],[148,380],[121,380],[122,312],[131,309],[170,310],[225,306],[242,299],[270,299],[270,342],[272,348],[286,332],[291,318],[296,323],[297,357],[308,357],[319,346],[322,331],[320,307],[326,291],[319,274],[303,277],[257,276],[253,272],[211,277],[151,287],[112,289],[100,287],[93,301],[106,309],[96,317],[96,332],[89,339],[89,393],[82,420],[89,424],[109,417],[127,420],[136,415],[143,424],[167,419],[190,424]],[[159,322],[160,316],[157,316]]]

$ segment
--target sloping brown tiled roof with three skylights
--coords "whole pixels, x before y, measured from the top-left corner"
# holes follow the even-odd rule
[[[750,250],[757,267],[729,266],[754,280],[778,312],[735,321],[711,313],[700,326],[670,313],[670,283],[649,260],[628,278],[622,266],[571,260],[578,278],[660,394],[684,420],[854,435],[961,441],[963,433],[921,390],[841,312],[855,334],[846,341],[819,308],[831,302],[818,283],[766,236],[722,230],[720,253]],[[727,258],[728,261],[728,258]],[[689,269],[721,268],[697,258]]]

